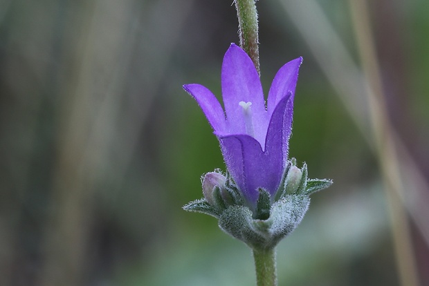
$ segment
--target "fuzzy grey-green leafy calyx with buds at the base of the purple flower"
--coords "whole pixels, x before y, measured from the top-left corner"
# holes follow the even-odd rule
[[[186,211],[214,216],[219,227],[253,249],[268,249],[298,227],[310,204],[309,196],[332,184],[331,180],[308,179],[307,164],[287,161],[283,179],[275,196],[259,188],[256,207],[246,204],[230,176],[219,170],[202,178],[204,198],[186,204]]]

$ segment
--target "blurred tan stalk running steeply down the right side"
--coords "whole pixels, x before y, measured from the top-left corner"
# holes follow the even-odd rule
[[[392,220],[392,236],[401,285],[417,286],[419,285],[419,279],[410,238],[410,227],[407,213],[399,197],[404,186],[399,170],[395,138],[392,135],[392,126],[387,116],[381,73],[372,30],[369,25],[367,2],[365,0],[350,0],[349,5],[356,32],[358,53],[360,54],[363,73],[369,86],[369,90],[366,93],[369,114],[371,116],[378,163],[380,164],[385,184],[385,196]]]

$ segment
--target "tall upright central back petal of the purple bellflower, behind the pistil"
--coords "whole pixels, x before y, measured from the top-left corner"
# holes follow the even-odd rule
[[[230,123],[230,133],[246,134],[239,102],[252,102],[254,137],[264,144],[268,126],[264,92],[253,61],[239,46],[231,44],[226,51],[221,77],[223,104],[226,119]]]

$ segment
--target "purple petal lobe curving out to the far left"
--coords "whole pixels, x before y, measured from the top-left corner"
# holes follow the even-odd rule
[[[225,114],[215,95],[201,84],[185,84],[183,89],[197,100],[215,132],[226,132]]]

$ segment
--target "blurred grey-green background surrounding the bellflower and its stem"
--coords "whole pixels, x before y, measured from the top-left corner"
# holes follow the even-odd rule
[[[257,2],[265,92],[304,57],[289,153],[334,180],[280,285],[429,285],[429,1],[368,2]],[[0,0],[0,285],[255,285],[181,209],[225,169],[181,86],[221,95],[238,41],[232,0]]]

